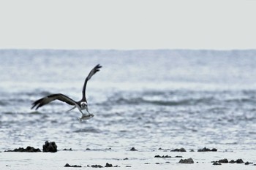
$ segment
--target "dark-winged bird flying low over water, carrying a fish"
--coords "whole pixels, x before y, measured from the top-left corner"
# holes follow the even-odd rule
[[[84,81],[84,84],[83,84],[83,91],[82,91],[83,96],[80,101],[74,101],[72,98],[69,98],[68,96],[66,96],[64,94],[56,93],[56,94],[51,94],[49,96],[45,96],[44,98],[40,98],[37,101],[34,101],[34,103],[32,103],[31,109],[34,109],[34,107],[35,107],[35,109],[37,110],[39,107],[42,107],[45,104],[50,103],[51,101],[59,100],[59,101],[66,102],[67,104],[74,106],[74,107],[72,107],[72,109],[75,109],[77,107],[78,110],[82,113],[82,117],[80,117],[80,120],[88,120],[91,117],[94,117],[94,115],[89,113],[89,111],[88,111],[88,104],[86,101],[86,85],[87,85],[87,82],[91,79],[91,77],[95,73],[99,72],[100,68],[102,68],[102,66],[100,66],[98,64],[97,66],[94,67],[94,69],[91,69],[91,72],[86,77],[86,80]],[[69,109],[68,111],[70,111],[72,109]],[[89,115],[84,114],[82,112],[83,109],[86,109],[86,111],[89,113]]]

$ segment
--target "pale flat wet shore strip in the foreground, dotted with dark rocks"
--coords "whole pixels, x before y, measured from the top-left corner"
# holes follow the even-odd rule
[[[58,152],[0,152],[0,169],[255,169],[256,152],[232,150],[217,152],[170,152],[170,150],[59,150]],[[179,163],[192,158],[194,163]],[[221,163],[221,159],[244,163]],[[245,163],[248,162],[249,165]],[[69,167],[67,166],[67,163]],[[67,166],[67,167],[65,167]],[[108,167],[105,167],[108,166]]]

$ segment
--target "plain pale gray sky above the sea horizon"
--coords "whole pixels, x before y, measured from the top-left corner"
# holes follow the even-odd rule
[[[256,0],[0,0],[0,48],[256,49]]]

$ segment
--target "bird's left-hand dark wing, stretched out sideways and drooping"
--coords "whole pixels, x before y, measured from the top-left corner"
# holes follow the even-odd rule
[[[67,104],[70,104],[73,106],[76,104],[75,101],[72,100],[72,98],[69,98],[68,96],[65,96],[64,94],[58,93],[58,94],[51,94],[49,96],[45,96],[44,98],[40,98],[37,101],[34,101],[31,109],[33,109],[34,107],[36,107],[36,109],[38,109],[39,107],[42,107],[45,104],[48,104],[54,100],[63,101],[63,102],[66,102]]]

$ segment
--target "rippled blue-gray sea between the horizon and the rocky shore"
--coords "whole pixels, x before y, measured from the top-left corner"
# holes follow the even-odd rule
[[[93,118],[61,101],[31,110],[51,93],[80,100],[98,63]],[[256,50],[0,50],[0,151],[47,140],[79,152],[256,150],[255,68]]]

